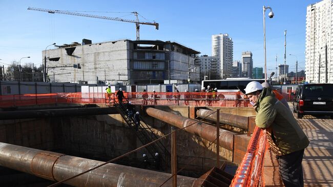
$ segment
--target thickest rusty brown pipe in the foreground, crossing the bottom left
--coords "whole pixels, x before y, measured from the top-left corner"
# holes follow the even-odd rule
[[[0,142],[0,165],[45,179],[60,181],[104,162]],[[109,163],[66,181],[73,186],[159,186],[171,174]],[[179,186],[199,186],[202,179],[177,176]],[[169,180],[164,186],[171,186]]]

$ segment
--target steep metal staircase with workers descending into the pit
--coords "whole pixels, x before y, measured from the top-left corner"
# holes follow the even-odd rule
[[[116,110],[119,112],[119,114],[122,116],[122,118],[126,121],[128,126],[136,131],[136,124],[134,120],[134,114],[132,117],[128,117],[128,112],[125,107],[125,104],[128,102],[127,99],[123,100],[123,104],[118,103],[117,101],[114,101],[114,106]],[[140,140],[140,142],[145,145],[148,144],[156,139],[158,137],[154,134],[153,130],[148,126],[143,126],[144,124],[147,124],[143,121],[143,119],[140,117],[140,123],[138,130],[136,131],[136,136]],[[145,149],[148,151],[149,155],[151,155],[151,158],[155,158],[155,153],[158,153],[160,156],[160,163],[164,163],[164,165],[169,165],[170,163],[170,153],[169,151],[163,146],[163,143],[161,140],[151,144],[150,146],[145,147]],[[162,169],[163,164],[160,165],[160,169]],[[163,170],[163,169],[162,169]]]

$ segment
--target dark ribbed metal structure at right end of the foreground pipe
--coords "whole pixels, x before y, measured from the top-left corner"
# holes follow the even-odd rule
[[[201,177],[204,181],[201,183],[203,187],[214,187],[214,186],[229,186],[234,176],[224,172],[219,168],[212,168]]]

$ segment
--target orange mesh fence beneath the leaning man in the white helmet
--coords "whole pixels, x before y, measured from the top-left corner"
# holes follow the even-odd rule
[[[267,148],[265,130],[256,127],[230,186],[264,186],[263,163]]]

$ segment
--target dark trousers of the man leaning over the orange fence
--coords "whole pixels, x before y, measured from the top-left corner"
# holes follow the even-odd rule
[[[303,154],[304,149],[278,157],[280,174],[286,187],[304,186],[302,169]]]

